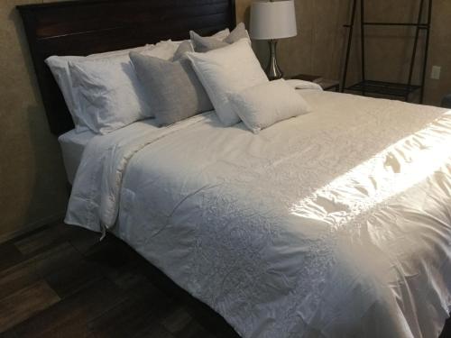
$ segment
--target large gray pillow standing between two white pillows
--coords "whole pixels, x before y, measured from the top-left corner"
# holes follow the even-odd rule
[[[130,59],[160,126],[213,110],[189,59],[168,61],[136,52]]]

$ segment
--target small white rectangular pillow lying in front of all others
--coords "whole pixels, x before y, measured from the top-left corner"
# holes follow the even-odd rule
[[[284,79],[230,93],[228,97],[235,113],[254,133],[310,111],[308,103]]]

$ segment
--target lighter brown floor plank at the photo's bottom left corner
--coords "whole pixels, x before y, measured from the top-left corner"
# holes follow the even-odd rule
[[[0,332],[5,332],[60,301],[45,280],[0,300]]]

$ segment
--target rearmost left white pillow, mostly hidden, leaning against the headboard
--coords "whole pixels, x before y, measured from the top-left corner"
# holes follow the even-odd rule
[[[62,95],[64,96],[64,100],[66,101],[66,105],[68,105],[69,112],[72,115],[72,120],[75,124],[77,132],[86,131],[88,128],[87,123],[85,122],[84,116],[80,116],[78,114],[82,114],[83,112],[77,110],[76,107],[76,98],[77,96],[74,91],[74,87],[72,85],[72,78],[70,76],[69,71],[69,62],[78,62],[84,60],[91,59],[106,59],[115,56],[128,56],[131,51],[143,52],[145,55],[154,56],[161,59],[171,59],[177,50],[178,45],[173,41],[161,41],[156,45],[146,45],[143,47],[128,49],[128,50],[115,50],[108,51],[106,53],[100,54],[91,54],[87,57],[79,57],[79,56],[51,56],[46,59],[45,62],[50,67],[53,77],[57,81]]]

